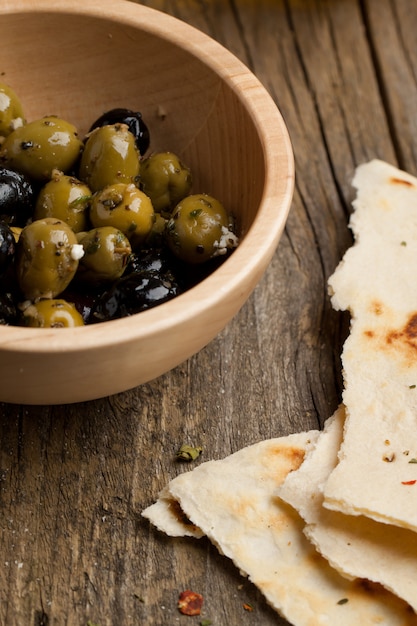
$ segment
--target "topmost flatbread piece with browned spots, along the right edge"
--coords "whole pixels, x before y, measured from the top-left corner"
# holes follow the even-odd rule
[[[417,179],[374,160],[353,185],[355,243],[329,280],[351,329],[347,421],[325,506],[417,531]]]

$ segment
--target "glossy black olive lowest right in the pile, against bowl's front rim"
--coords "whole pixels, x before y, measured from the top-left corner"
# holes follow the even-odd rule
[[[91,322],[119,319],[163,304],[180,293],[170,274],[155,271],[133,272],[123,276],[97,301]]]

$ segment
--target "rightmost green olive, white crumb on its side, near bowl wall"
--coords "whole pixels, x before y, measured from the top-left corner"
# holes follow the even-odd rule
[[[222,254],[227,245],[223,243],[225,235],[235,239],[229,231],[226,210],[207,194],[194,194],[181,200],[166,226],[168,246],[189,263],[203,263]]]

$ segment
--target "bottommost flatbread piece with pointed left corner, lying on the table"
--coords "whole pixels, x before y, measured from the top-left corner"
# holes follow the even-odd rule
[[[301,517],[275,495],[318,436],[319,431],[310,431],[266,440],[208,461],[174,478],[163,498],[166,502],[170,494],[177,500],[187,518],[291,624],[416,626],[417,615],[405,602],[331,568],[304,536]],[[155,505],[142,515],[163,530]]]

